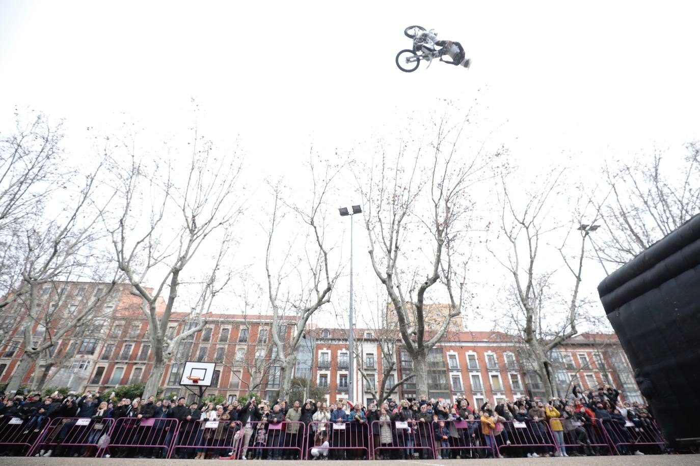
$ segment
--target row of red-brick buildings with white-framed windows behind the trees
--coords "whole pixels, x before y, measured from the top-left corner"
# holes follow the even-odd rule
[[[16,309],[15,314],[9,310],[2,316],[0,384],[9,380],[22,357],[25,342],[18,335],[25,325],[32,326],[36,341],[31,344],[37,344],[51,336],[52,322],[69,319],[80,305],[105,289],[106,284],[94,283],[50,285],[41,292],[42,305],[47,312],[53,312],[46,325],[26,322]],[[207,319],[204,329],[181,341],[167,365],[161,380],[163,393],[189,395],[180,386],[183,364],[210,361],[216,363],[216,370],[208,394],[235,400],[252,391],[264,398],[274,398],[281,384],[281,368],[276,362],[277,349],[271,335],[272,316],[207,314],[204,317]],[[167,333],[178,335],[195,325],[188,315],[174,313]],[[292,319],[283,320],[279,326],[281,340],[291,339],[293,326]],[[361,400],[365,405],[372,402],[374,395],[370,388],[381,384],[386,361],[382,360],[375,330],[356,329],[355,333],[356,358],[350,373],[346,330],[310,328],[297,351],[295,377],[313,381],[328,393],[328,401],[347,400],[352,395],[353,400]],[[395,368],[387,375],[387,386],[410,376],[413,370],[413,362],[402,348],[400,338],[396,337],[391,344],[395,345]],[[428,394],[436,399],[465,398],[474,406],[486,400],[498,402],[523,395],[543,397],[542,383],[523,349],[514,337],[505,333],[450,331],[428,355]],[[596,390],[604,384],[619,388],[627,400],[641,400],[629,361],[615,335],[577,335],[553,351],[550,358],[556,367],[554,388],[560,396],[570,393],[574,384],[584,390]],[[39,359],[37,367],[31,367],[22,383],[30,389],[43,381],[43,388],[69,386],[76,391],[110,391],[118,386],[144,383],[152,361],[148,321],[140,300],[130,293],[129,286],[120,284],[104,301],[99,318],[64,335]],[[360,374],[358,362],[368,381]],[[408,379],[393,397],[416,398],[415,380]]]

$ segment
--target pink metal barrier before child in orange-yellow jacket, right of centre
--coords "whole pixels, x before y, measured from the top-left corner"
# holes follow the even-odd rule
[[[440,432],[440,423],[447,429],[447,435]],[[496,456],[496,437],[483,435],[480,420],[435,421],[433,422],[435,455],[442,459],[485,458],[491,453]],[[447,437],[444,439],[442,437]],[[505,434],[507,438],[507,433]]]

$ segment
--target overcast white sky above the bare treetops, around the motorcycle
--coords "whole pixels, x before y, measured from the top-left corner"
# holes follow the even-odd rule
[[[700,138],[699,13],[692,1],[0,0],[0,131],[15,105],[64,117],[80,157],[88,126],[186,129],[194,98],[207,136],[238,138],[262,178],[294,173],[312,143],[353,147],[454,99],[477,102],[484,135],[521,163],[597,166]],[[460,41],[472,67],[399,71],[411,24]]]

